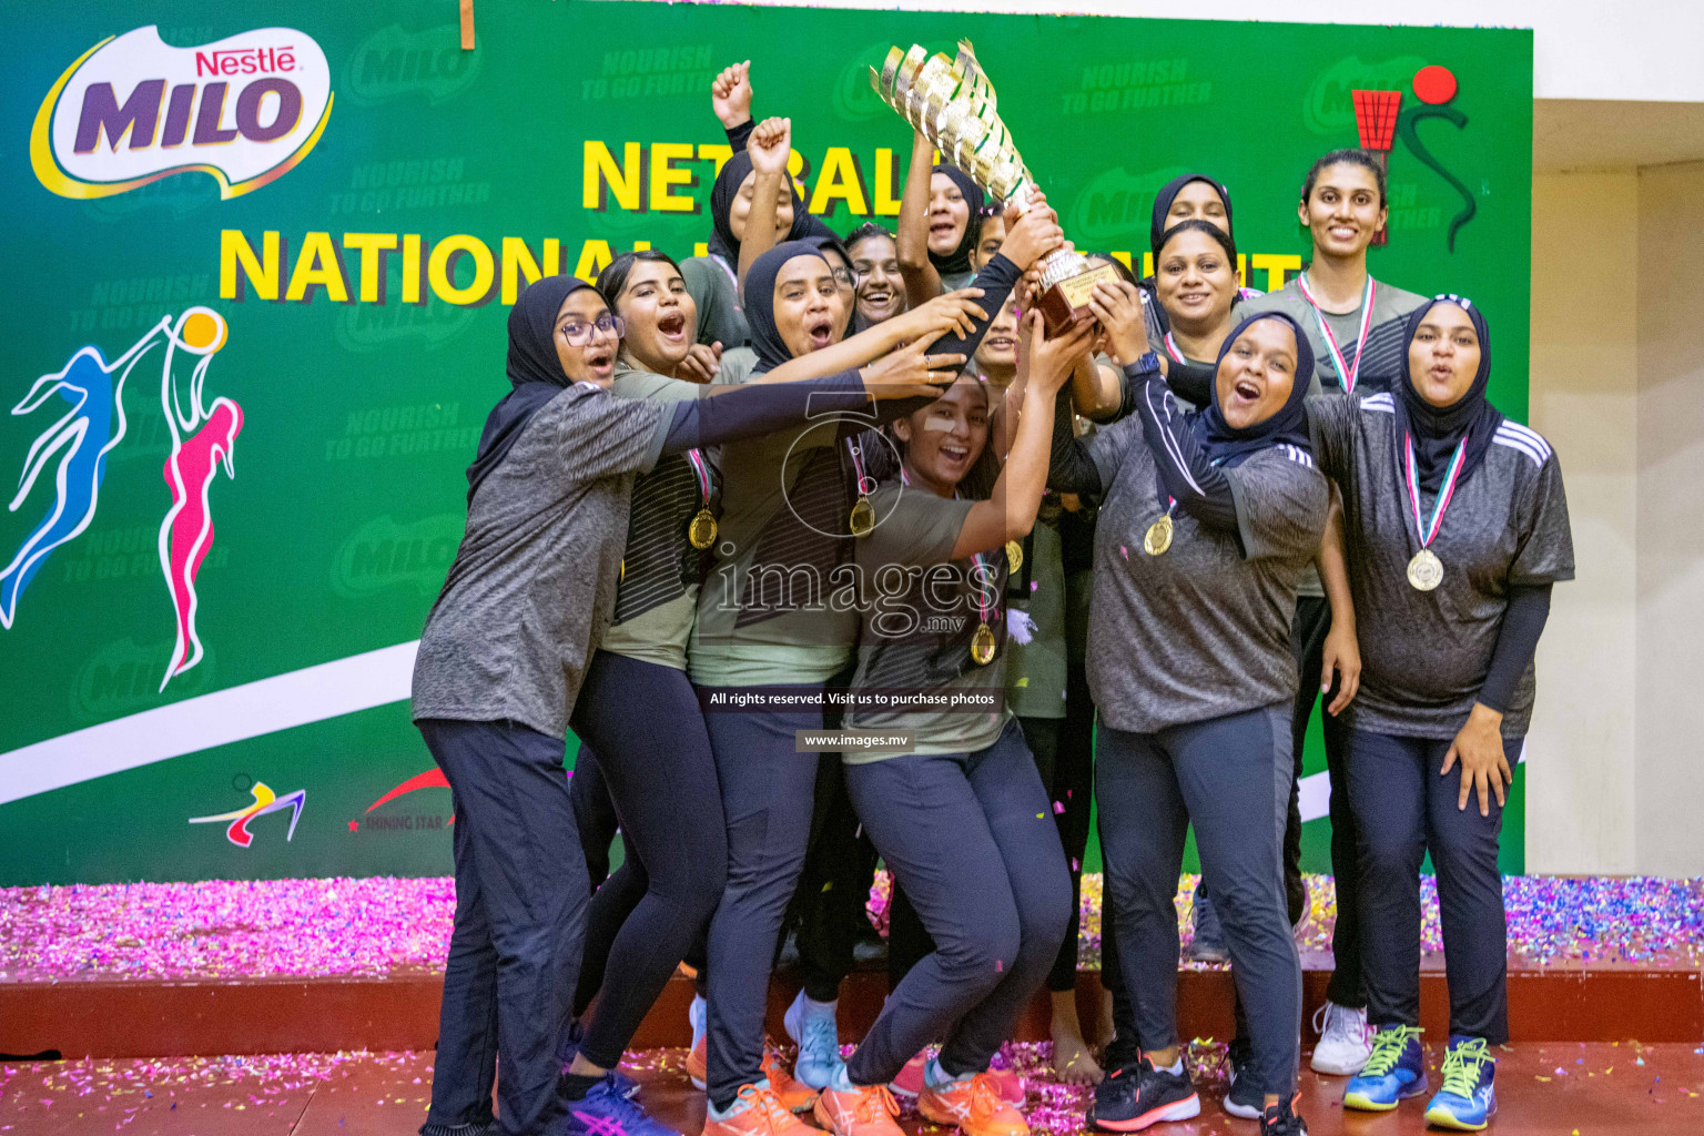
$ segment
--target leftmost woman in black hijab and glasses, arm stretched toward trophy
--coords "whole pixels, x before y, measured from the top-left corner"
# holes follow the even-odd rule
[[[857,375],[670,405],[617,399],[620,332],[567,276],[535,281],[509,310],[513,390],[479,438],[467,535],[421,634],[412,717],[455,794],[458,896],[426,1136],[491,1122],[499,1053],[504,1131],[542,1133],[557,1112],[588,892],[564,737],[596,712],[578,695],[615,600],[634,475],[665,453],[869,404]],[[891,390],[929,390],[913,375]],[[610,1078],[581,1080],[593,1083],[567,1087],[579,1114],[649,1124]]]

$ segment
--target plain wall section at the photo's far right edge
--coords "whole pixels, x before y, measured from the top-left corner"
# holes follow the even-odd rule
[[[1639,170],[1638,870],[1704,872],[1704,162]]]

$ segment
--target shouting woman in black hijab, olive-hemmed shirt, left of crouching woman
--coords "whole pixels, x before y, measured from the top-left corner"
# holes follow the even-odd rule
[[[982,313],[971,334],[917,339],[900,354],[963,366],[987,330],[987,313],[999,312],[1022,271],[1062,240],[1051,209],[1036,209],[978,276]],[[821,252],[806,242],[777,245],[751,266],[746,313],[758,383],[770,371],[854,346],[838,342],[849,318],[845,296]],[[903,318],[857,339],[874,341]],[[722,535],[688,647],[700,695],[722,688],[792,698],[803,688],[818,697],[852,661],[857,611],[837,596],[854,540],[876,523],[874,479],[859,436],[874,421],[917,405],[884,402],[876,416],[825,416],[808,431],[722,450]],[[765,1117],[784,1114],[762,1085],[763,1007],[815,802],[818,758],[796,753],[796,736],[823,729],[823,712],[804,705],[813,709],[787,710],[777,702],[775,709],[705,715],[729,841],[728,889],[709,935],[709,1136],[760,1133]]]

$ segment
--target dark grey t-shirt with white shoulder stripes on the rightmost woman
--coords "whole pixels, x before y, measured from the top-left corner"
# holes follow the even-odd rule
[[[1431,550],[1443,582],[1416,591],[1419,552],[1404,489],[1389,392],[1363,400],[1309,399],[1314,453],[1343,489],[1343,528],[1361,647],[1361,690],[1344,710],[1353,729],[1401,737],[1455,737],[1491,669],[1511,584],[1573,579],[1563,470],[1551,446],[1503,422],[1484,462],[1455,485]],[[1421,494],[1430,518],[1433,494]],[[1503,736],[1527,734],[1534,668],[1522,676]]]

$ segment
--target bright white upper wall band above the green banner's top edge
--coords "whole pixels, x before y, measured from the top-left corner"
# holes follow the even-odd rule
[[[774,0],[757,0],[770,3]],[[1055,12],[1290,24],[1445,24],[1534,29],[1539,99],[1704,100],[1701,0],[835,0],[794,5],[927,12]]]

